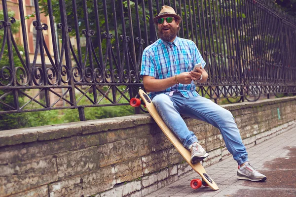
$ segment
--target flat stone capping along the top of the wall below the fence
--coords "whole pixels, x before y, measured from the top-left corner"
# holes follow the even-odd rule
[[[296,97],[266,99],[259,100],[256,102],[240,102],[222,105],[222,107],[230,111],[235,111],[245,108],[253,108],[258,106],[271,105],[275,103],[288,102],[292,100],[296,100]],[[188,122],[188,126],[190,126],[191,124],[196,124],[197,122],[202,123],[201,121],[191,119],[187,119],[185,121]],[[101,131],[124,129],[149,123],[155,123],[149,114],[138,114],[117,118],[90,120],[85,122],[66,123],[61,125],[41,126],[17,130],[5,130],[0,131],[0,147],[35,141],[59,139],[89,133],[98,133]]]

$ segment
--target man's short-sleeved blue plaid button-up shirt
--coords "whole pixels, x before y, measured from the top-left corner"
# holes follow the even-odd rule
[[[202,63],[206,66],[195,43],[191,40],[176,37],[173,42],[166,42],[161,39],[156,40],[143,51],[141,75],[155,77],[155,79],[165,79],[182,72],[189,72],[194,65]],[[197,97],[196,87],[193,81],[191,84],[176,84],[160,92],[151,92],[150,97],[170,92],[180,92],[185,98]]]

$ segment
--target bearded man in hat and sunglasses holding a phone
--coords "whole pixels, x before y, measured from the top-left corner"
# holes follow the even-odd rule
[[[166,5],[153,18],[160,39],[143,52],[141,75],[146,91],[150,92],[149,96],[167,126],[179,137],[184,147],[191,151],[193,164],[209,154],[198,144],[197,137],[188,130],[180,114],[219,128],[228,151],[239,165],[238,179],[266,180],[266,176],[249,163],[232,114],[195,91],[194,81],[206,82],[208,73],[195,43],[177,36],[181,20],[175,10]],[[192,70],[198,63],[202,66]]]

